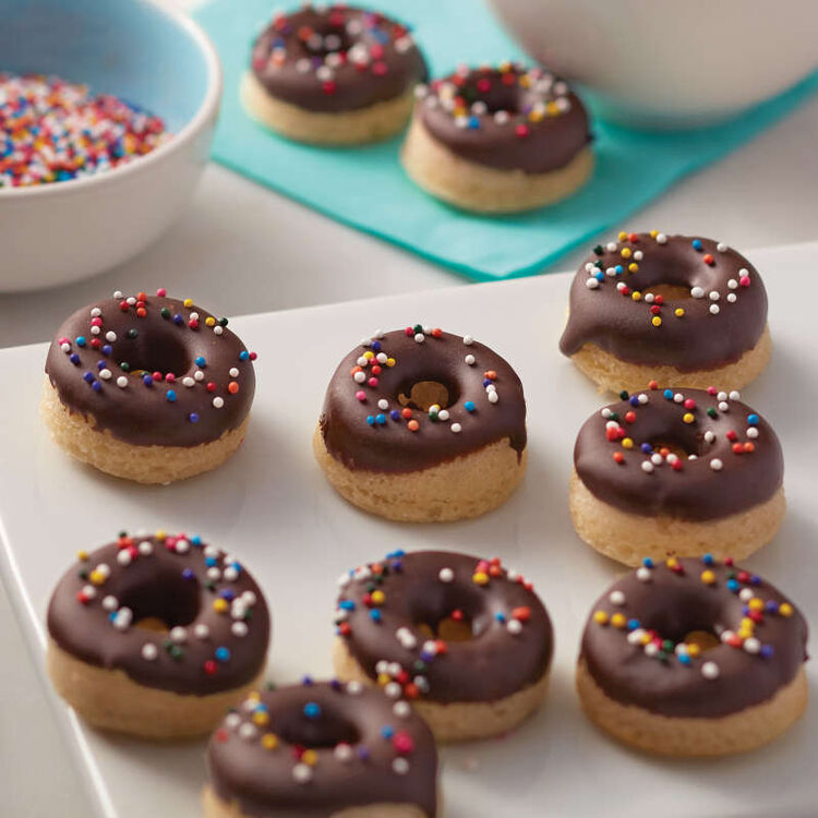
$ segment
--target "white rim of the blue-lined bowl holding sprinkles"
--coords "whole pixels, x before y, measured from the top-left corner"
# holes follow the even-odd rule
[[[82,191],[93,185],[107,185],[116,183],[125,175],[137,173],[146,170],[151,165],[163,161],[166,157],[181,151],[202,130],[202,127],[218,110],[221,99],[224,83],[221,62],[216,47],[205,34],[204,28],[185,12],[160,4],[157,0],[135,0],[137,3],[153,7],[157,12],[168,17],[193,39],[205,58],[207,65],[207,89],[204,99],[196,112],[191,117],[180,131],[171,134],[172,139],[154,148],[151,153],[140,156],[125,165],[111,168],[103,173],[86,176],[80,179],[68,179],[63,182],[47,182],[46,184],[32,184],[21,188],[0,188],[0,202],[12,199],[32,199],[35,196],[65,195],[74,191]]]

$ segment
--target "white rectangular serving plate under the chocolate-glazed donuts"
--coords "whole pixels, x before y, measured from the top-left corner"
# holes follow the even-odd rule
[[[774,353],[745,390],[781,436],[790,502],[779,537],[746,564],[787,592],[813,623],[818,364],[810,349],[813,272],[805,261],[817,254],[818,243],[751,255],[770,293]],[[335,581],[345,569],[396,548],[496,554],[530,576],[549,606],[556,633],[552,686],[545,706],[516,733],[443,750],[447,818],[815,814],[815,706],[768,748],[709,761],[630,751],[579,710],[573,669],[581,627],[621,568],[584,545],[568,517],[574,435],[605,402],[557,351],[568,281],[555,275],[236,320],[231,326],[258,351],[246,442],[217,471],[171,486],[132,485],[71,461],[37,412],[45,346],[0,351],[0,567],[40,673],[53,584],[77,550],[109,542],[120,529],[195,531],[239,554],[270,603],[269,667],[279,683],[330,673]],[[67,313],[76,306],[67,304]],[[370,517],[341,501],[313,460],[311,435],[337,361],[378,327],[418,322],[474,335],[512,362],[526,388],[528,476],[505,506],[482,519],[411,526]],[[816,663],[807,667],[815,689]],[[50,687],[49,696],[100,815],[197,815],[204,743],[152,746],[100,735],[80,724]]]

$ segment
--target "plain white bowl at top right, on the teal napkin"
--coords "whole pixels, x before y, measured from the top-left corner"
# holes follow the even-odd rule
[[[623,124],[710,124],[818,67],[816,0],[491,1],[536,60]]]

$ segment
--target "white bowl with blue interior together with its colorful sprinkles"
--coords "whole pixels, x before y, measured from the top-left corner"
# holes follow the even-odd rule
[[[96,275],[181,215],[221,71],[155,0],[12,0],[0,25],[0,292]]]

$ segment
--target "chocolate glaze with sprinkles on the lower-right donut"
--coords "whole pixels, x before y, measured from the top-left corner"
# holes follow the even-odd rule
[[[691,630],[735,635],[748,604],[755,604],[742,599],[748,592],[775,608],[792,604],[771,585],[739,568],[703,565],[694,558],[677,563],[682,573],[657,565],[639,569],[646,580],[639,579],[639,572],[626,574],[600,597],[593,611],[609,616],[619,613],[637,619],[643,630],[655,630],[660,639],[678,642]],[[711,585],[701,579],[705,570],[713,574]],[[734,590],[727,587],[731,577]],[[613,592],[624,594],[624,602],[614,603]],[[660,715],[717,719],[768,701],[793,681],[807,659],[807,625],[796,609],[789,616],[767,609],[760,618],[753,637],[759,645],[743,640],[734,647],[722,641],[691,657],[685,665],[673,654],[673,648],[663,659],[649,655],[641,643],[634,643],[637,639],[629,636],[627,627],[600,625],[591,616],[582,635],[580,658],[605,695],[616,701]],[[765,655],[766,646],[772,649],[771,655]],[[707,662],[717,666],[715,678],[703,675]]]

